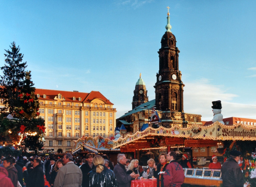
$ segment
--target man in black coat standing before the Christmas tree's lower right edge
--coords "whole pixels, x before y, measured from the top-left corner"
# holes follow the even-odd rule
[[[33,171],[29,173],[29,181],[27,187],[45,187],[44,171],[42,171],[41,161],[34,159]]]

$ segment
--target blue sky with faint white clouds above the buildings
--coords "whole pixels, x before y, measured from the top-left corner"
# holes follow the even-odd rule
[[[211,120],[222,100],[224,118],[256,119],[256,1],[0,0],[0,66],[15,41],[36,88],[100,91],[120,117],[140,73],[155,98],[167,6],[184,112]]]

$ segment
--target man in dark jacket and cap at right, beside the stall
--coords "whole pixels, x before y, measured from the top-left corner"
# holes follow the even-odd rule
[[[230,157],[221,168],[221,178],[223,180],[223,187],[243,187],[244,180],[242,171],[238,165],[240,155],[242,153],[237,150],[230,151]]]

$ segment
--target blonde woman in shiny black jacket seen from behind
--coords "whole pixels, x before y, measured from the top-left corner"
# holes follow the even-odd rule
[[[95,168],[89,172],[90,187],[117,187],[115,174],[104,165],[104,159],[100,155],[93,158]]]

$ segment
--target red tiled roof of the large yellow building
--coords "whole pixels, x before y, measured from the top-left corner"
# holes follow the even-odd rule
[[[98,91],[91,91],[90,93],[83,93],[83,92],[77,92],[77,91],[60,91],[60,90],[47,90],[47,89],[36,89],[35,94],[40,94],[40,97],[38,99],[41,100],[55,100],[55,97],[58,97],[58,94],[61,94],[61,97],[63,97],[66,101],[71,102],[91,102],[93,99],[101,99],[106,104],[113,104],[110,102],[109,99],[105,98],[100,92]],[[46,95],[46,98],[43,97],[43,95]],[[73,97],[75,97],[76,100],[73,100]],[[79,101],[78,98],[81,98]]]

